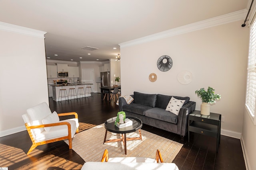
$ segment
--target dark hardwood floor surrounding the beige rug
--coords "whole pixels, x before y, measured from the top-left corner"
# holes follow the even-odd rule
[[[118,106],[113,101],[102,102],[100,94],[96,93],[93,98],[72,101],[54,102],[49,98],[49,104],[50,109],[57,113],[77,112],[79,131],[100,125],[118,112]],[[239,139],[222,135],[219,152],[216,153],[215,138],[194,134],[191,143],[188,143],[187,136],[181,141],[179,135],[148,125],[143,125],[142,129],[184,144],[173,161],[180,170],[246,169]],[[27,156],[24,152],[32,144],[27,131],[1,137],[0,144],[0,167],[8,167],[8,170],[80,170],[84,164],[84,160],[72,149],[69,150],[64,141],[38,146]]]

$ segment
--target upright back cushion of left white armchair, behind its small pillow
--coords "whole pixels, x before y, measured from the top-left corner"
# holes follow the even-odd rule
[[[52,114],[48,104],[43,102],[38,104],[32,108],[27,109],[28,116],[30,117],[30,123],[32,126],[34,125],[42,125],[42,119]],[[41,133],[44,131],[44,128],[33,129],[35,134]]]

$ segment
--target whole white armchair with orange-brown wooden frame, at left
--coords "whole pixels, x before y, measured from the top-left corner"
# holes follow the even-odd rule
[[[73,119],[60,121],[59,116],[74,115]],[[72,138],[78,133],[78,115],[75,112],[51,112],[46,102],[27,109],[22,115],[26,129],[32,141],[29,154],[39,145],[68,139],[69,149],[72,149]]]

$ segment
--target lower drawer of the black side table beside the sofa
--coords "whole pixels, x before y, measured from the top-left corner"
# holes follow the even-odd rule
[[[218,137],[218,130],[215,125],[201,122],[192,122],[189,126],[189,131],[211,137]]]

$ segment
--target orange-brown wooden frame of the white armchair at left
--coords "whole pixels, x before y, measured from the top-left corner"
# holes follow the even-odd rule
[[[58,113],[58,116],[66,116],[66,115],[74,115],[75,118],[78,119],[78,115],[76,112]],[[50,139],[50,140],[46,140],[46,141],[41,141],[41,142],[36,142],[34,135],[32,134],[33,133],[32,129],[42,128],[42,127],[59,126],[59,125],[67,125],[68,126],[68,135],[67,136]],[[32,146],[28,150],[27,154],[29,154],[32,150],[34,150],[39,145],[44,145],[44,144],[52,143],[52,142],[56,142],[56,141],[62,141],[65,139],[68,139],[69,149],[72,149],[71,125],[68,122],[50,123],[50,124],[36,125],[36,126],[29,126],[28,123],[25,123],[25,126],[26,126],[26,129],[30,136],[30,139],[32,141]],[[76,129],[76,133],[78,133],[78,128]]]

